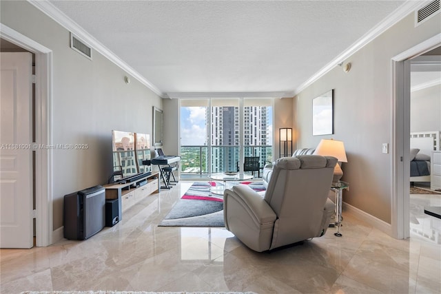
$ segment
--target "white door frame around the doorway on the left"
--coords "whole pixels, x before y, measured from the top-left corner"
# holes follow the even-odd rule
[[[35,54],[35,143],[52,145],[52,50],[0,23],[0,37]],[[36,244],[52,244],[52,149],[35,149]]]

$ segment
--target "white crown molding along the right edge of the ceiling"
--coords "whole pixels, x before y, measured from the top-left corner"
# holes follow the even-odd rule
[[[329,62],[325,67],[322,67],[321,70],[316,72],[313,76],[307,79],[304,83],[296,87],[293,91],[294,95],[299,94],[307,87],[309,87],[312,83],[316,82],[319,78],[330,72],[337,65],[342,64],[346,59],[349,58],[352,54],[356,53],[361,48],[365,47],[369,42],[376,39],[377,36],[380,36],[386,30],[398,23],[398,21],[402,20],[404,17],[407,17],[410,13],[415,12],[416,9],[424,6],[429,1],[413,1],[408,0],[402,6],[397,8],[391,14],[384,18],[383,21],[378,23],[375,27],[373,27],[369,32],[367,32],[364,36],[358,39],[355,43],[353,43],[347,50],[343,51],[340,55],[338,55],[335,59]]]

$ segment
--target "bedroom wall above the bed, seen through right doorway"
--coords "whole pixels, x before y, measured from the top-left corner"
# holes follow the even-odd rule
[[[441,85],[411,92],[411,132],[441,130]]]

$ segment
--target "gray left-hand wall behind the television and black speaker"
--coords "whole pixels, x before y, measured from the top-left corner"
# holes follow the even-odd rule
[[[54,229],[63,225],[63,196],[102,185],[112,173],[112,129],[152,135],[152,106],[162,99],[101,54],[70,49],[70,33],[26,1],[1,1],[1,23],[46,48],[52,59],[52,141],[86,150],[54,150]]]

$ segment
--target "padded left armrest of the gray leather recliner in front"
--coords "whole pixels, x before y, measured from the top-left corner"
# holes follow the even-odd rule
[[[245,204],[245,207],[247,207],[249,214],[253,216],[258,224],[272,223],[276,220],[276,213],[269,207],[269,204],[262,196],[247,185],[235,185],[232,191],[239,196],[240,200]],[[232,195],[234,194],[230,196]]]

